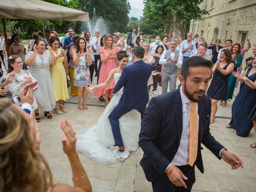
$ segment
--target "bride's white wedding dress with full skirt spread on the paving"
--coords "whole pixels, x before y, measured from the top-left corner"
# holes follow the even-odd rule
[[[118,82],[120,76],[120,73],[114,74],[115,83]],[[141,128],[141,115],[138,110],[132,110],[119,119],[120,131],[125,146],[124,152],[119,152],[118,146],[114,146],[115,141],[108,116],[118,104],[122,93],[123,88],[112,97],[96,125],[76,134],[77,150],[96,162],[123,161],[128,158],[129,151],[136,151],[138,148]]]

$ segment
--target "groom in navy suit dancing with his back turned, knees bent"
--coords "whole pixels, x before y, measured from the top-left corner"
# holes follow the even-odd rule
[[[124,144],[120,133],[119,121],[124,114],[136,109],[141,113],[141,119],[148,103],[148,79],[150,78],[152,67],[142,61],[144,49],[140,46],[132,50],[132,65],[124,67],[122,74],[113,89],[113,93],[118,92],[123,86],[123,94],[118,105],[108,116],[116,146],[119,151],[124,151]]]

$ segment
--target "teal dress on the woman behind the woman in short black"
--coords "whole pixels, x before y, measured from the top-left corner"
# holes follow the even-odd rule
[[[236,57],[237,60],[237,64],[235,64],[235,60],[233,59],[231,62],[234,63],[234,72],[237,72],[237,68],[242,64],[242,54],[240,54],[240,56]],[[232,74],[230,74],[230,76],[228,77],[228,94],[227,94],[227,99],[232,99],[233,98],[233,94],[234,94],[234,90],[235,90],[235,85],[236,85],[236,77],[233,76]]]

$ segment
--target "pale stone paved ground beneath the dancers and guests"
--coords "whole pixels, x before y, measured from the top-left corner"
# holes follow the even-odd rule
[[[96,78],[94,77],[93,84]],[[178,84],[178,82],[177,82]],[[161,93],[160,87],[157,90]],[[235,94],[238,93],[238,88]],[[150,98],[154,96],[150,91]],[[74,103],[72,103],[74,102]],[[98,98],[88,94],[87,103],[100,104]],[[228,102],[226,108],[219,107],[217,115],[231,117],[231,104]],[[64,134],[60,129],[60,122],[68,120],[74,131],[93,125],[104,111],[99,106],[90,106],[88,110],[81,111],[77,106],[77,98],[71,97],[66,102],[67,114],[56,115],[52,112],[52,120],[43,117],[40,111],[41,122],[41,152],[46,157],[55,182],[63,182],[72,185],[72,172],[68,158],[62,151]],[[244,161],[244,169],[231,170],[223,160],[218,160],[204,146],[202,150],[204,162],[204,174],[196,168],[196,183],[193,192],[255,192],[256,191],[256,149],[249,147],[249,144],[256,142],[256,135],[252,129],[247,138],[236,135],[235,130],[226,128],[229,119],[217,118],[211,125],[211,133],[214,138],[222,143],[230,152],[238,154]],[[80,160],[86,170],[94,192],[151,192],[152,188],[146,181],[142,168],[139,164],[143,152],[140,148],[132,152],[124,162],[113,164],[98,164],[80,154]]]

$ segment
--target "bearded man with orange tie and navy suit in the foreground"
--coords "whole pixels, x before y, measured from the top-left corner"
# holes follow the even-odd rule
[[[139,145],[140,165],[154,192],[190,192],[196,181],[194,166],[203,173],[201,143],[232,169],[242,160],[226,150],[210,133],[210,98],[205,95],[212,62],[198,56],[182,64],[181,87],[152,98],[144,114]]]

